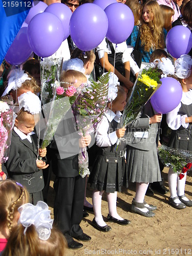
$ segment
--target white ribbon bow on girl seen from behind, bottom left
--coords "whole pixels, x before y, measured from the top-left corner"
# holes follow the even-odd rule
[[[20,213],[18,223],[25,227],[24,234],[27,228],[33,224],[41,240],[49,239],[53,220],[50,216],[51,211],[45,202],[38,201],[36,205],[24,204],[18,208],[18,212]]]

